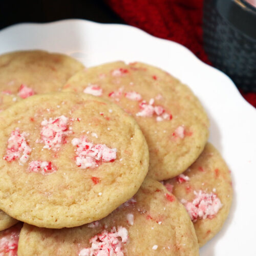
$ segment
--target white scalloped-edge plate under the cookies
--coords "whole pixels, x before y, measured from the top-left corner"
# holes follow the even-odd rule
[[[228,220],[200,255],[256,255],[256,111],[224,73],[175,42],[130,26],[86,20],[19,24],[0,31],[0,54],[26,49],[66,53],[87,67],[114,60],[143,61],[188,84],[208,113],[209,140],[228,163],[234,188]]]

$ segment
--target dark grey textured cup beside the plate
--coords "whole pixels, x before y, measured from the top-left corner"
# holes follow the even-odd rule
[[[236,85],[256,92],[256,6],[253,0],[205,0],[203,41],[209,60]]]

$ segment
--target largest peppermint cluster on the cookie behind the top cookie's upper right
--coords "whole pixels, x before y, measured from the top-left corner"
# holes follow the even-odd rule
[[[166,113],[165,109],[162,106],[154,106],[154,99],[150,99],[150,102],[147,103],[145,100],[141,101],[139,104],[140,112],[136,114],[136,116],[142,117],[152,117],[156,115],[156,120],[158,122],[163,120],[172,119],[172,115]]]

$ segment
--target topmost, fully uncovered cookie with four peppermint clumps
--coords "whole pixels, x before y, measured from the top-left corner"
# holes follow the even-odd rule
[[[26,223],[74,227],[131,198],[148,170],[136,121],[92,95],[34,95],[0,113],[0,209]]]

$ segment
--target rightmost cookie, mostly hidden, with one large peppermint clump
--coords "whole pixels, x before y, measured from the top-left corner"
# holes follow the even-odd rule
[[[231,177],[220,153],[207,143],[186,172],[164,184],[186,207],[203,246],[220,231],[232,202]]]

